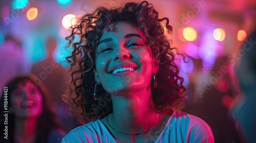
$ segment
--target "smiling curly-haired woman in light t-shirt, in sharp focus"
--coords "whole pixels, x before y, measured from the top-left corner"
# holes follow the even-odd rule
[[[73,46],[63,101],[82,124],[62,142],[214,142],[200,118],[177,110],[186,88],[152,4],[97,8],[67,37]],[[74,38],[79,37],[79,42]]]

